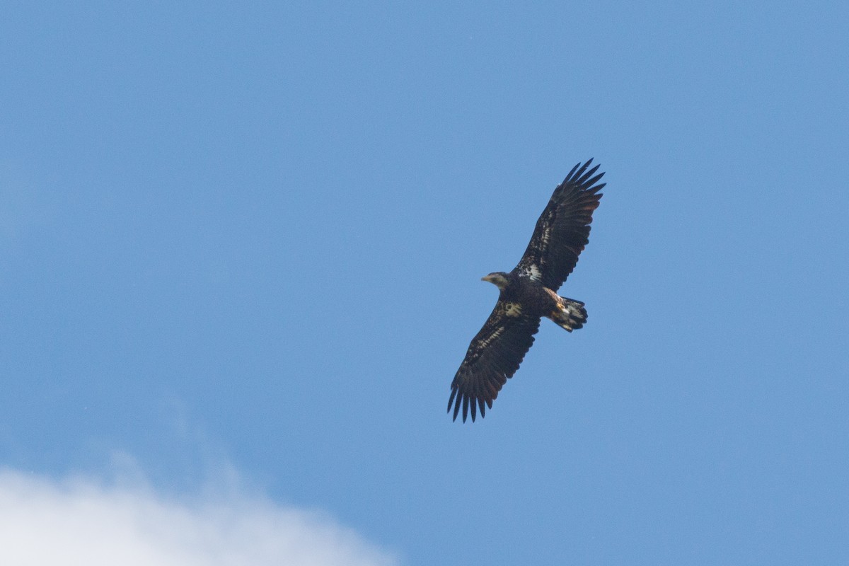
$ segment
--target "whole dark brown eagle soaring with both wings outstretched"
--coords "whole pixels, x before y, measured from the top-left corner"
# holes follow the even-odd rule
[[[593,160],[575,165],[554,189],[534,228],[531,243],[519,265],[509,273],[494,272],[483,281],[493,283],[501,293],[492,314],[477,333],[457,375],[451,383],[448,412],[454,420],[463,407],[463,422],[478,409],[481,417],[533,344],[542,317],[553,320],[569,332],[587,322],[587,310],[580,300],[566,299],[557,289],[575,269],[578,255],[588,243],[593,210],[599,207],[605,183],[599,165]]]

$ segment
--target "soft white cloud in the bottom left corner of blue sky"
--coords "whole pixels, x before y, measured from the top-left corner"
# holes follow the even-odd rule
[[[244,490],[184,502],[135,480],[0,470],[0,563],[29,566],[388,566],[390,553],[323,515]]]

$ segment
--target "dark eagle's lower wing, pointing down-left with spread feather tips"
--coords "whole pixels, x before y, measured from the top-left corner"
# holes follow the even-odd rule
[[[492,408],[492,401],[498,397],[498,391],[508,378],[512,378],[519,364],[533,344],[533,335],[539,329],[539,317],[527,317],[522,314],[521,305],[498,300],[492,314],[477,333],[457,375],[451,382],[451,398],[448,399],[448,412],[454,407],[454,420],[457,420],[460,406],[463,406],[463,422],[471,406],[472,422],[477,409],[481,417],[486,407]]]

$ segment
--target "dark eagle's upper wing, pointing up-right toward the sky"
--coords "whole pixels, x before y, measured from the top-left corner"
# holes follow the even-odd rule
[[[593,210],[599,207],[604,183],[595,184],[604,173],[595,174],[599,165],[587,170],[593,160],[575,165],[565,180],[554,189],[548,205],[537,220],[531,243],[515,271],[556,291],[569,277],[578,255],[588,243]]]

